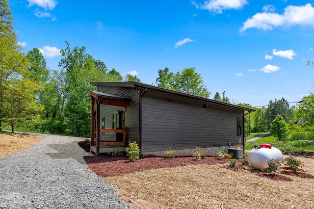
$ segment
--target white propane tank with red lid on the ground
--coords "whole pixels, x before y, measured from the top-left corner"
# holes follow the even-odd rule
[[[261,144],[260,147],[252,149],[247,154],[247,161],[249,164],[258,170],[262,170],[268,167],[267,161],[269,159],[283,159],[281,151],[270,144]]]

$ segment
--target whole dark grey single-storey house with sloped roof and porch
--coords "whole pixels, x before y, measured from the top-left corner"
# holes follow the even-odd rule
[[[244,111],[253,109],[138,82],[91,83],[91,152],[124,151],[136,141],[142,154],[190,156],[199,147],[244,148]]]

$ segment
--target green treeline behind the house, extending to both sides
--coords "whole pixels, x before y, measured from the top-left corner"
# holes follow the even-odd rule
[[[0,0],[0,131],[11,129],[89,137],[90,96],[96,90],[91,82],[137,81],[136,76],[124,78],[114,68],[108,70],[103,61],[96,60],[85,47],[70,48],[65,42],[61,50],[59,70],[51,70],[38,49],[22,52],[13,30],[13,18],[5,0]],[[309,63],[311,66],[311,63]],[[211,92],[194,68],[177,73],[168,68],[158,70],[156,85],[209,98]],[[214,100],[231,102],[218,92]],[[297,101],[299,102],[299,101]],[[290,130],[288,137],[311,138],[314,131],[314,95],[305,96],[300,103],[288,103],[281,98],[268,106],[252,107],[256,111],[245,115],[245,132],[265,132],[281,115]],[[302,135],[303,134],[303,135]],[[313,139],[313,137],[312,137]]]

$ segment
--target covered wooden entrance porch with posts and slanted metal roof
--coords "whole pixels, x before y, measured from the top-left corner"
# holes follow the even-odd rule
[[[128,142],[128,128],[124,126],[123,120],[126,108],[131,104],[131,99],[98,91],[90,91],[90,97],[91,152],[95,153],[96,156],[100,153],[124,152]],[[102,118],[101,116],[101,105],[110,105],[122,109],[112,112],[111,129],[105,127],[105,117]]]

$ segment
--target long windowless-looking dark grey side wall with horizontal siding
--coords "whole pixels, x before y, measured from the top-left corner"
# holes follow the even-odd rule
[[[142,98],[142,153],[200,147],[213,155],[229,142],[242,145],[236,127],[242,116],[243,110],[149,90]]]

